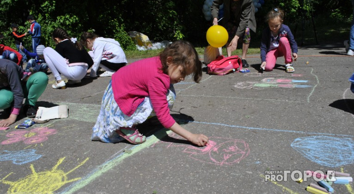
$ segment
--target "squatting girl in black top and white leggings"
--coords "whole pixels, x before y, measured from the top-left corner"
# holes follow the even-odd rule
[[[68,84],[80,83],[94,61],[77,39],[69,37],[63,29],[55,29],[52,37],[57,44],[55,50],[47,47],[43,51],[44,59],[56,80],[52,88],[65,88],[60,74],[69,79]]]

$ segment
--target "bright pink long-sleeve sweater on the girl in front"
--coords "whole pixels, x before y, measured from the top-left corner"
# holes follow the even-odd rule
[[[137,107],[150,97],[157,118],[165,128],[175,124],[170,115],[166,94],[170,77],[161,70],[160,57],[152,57],[120,68],[112,76],[114,100],[120,110],[131,116]]]

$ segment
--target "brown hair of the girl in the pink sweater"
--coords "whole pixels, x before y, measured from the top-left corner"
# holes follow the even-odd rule
[[[171,63],[176,67],[182,66],[184,73],[187,72],[186,70],[192,70],[195,82],[199,82],[202,79],[202,62],[199,61],[198,53],[190,42],[177,40],[168,45],[159,56],[163,73],[167,74],[167,58],[172,57]]]

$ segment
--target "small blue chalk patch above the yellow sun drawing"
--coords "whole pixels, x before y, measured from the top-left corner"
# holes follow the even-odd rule
[[[35,149],[27,149],[22,151],[4,150],[3,152],[6,153],[0,154],[0,161],[12,161],[12,163],[18,165],[32,162],[42,157],[42,155],[34,153],[35,151]]]

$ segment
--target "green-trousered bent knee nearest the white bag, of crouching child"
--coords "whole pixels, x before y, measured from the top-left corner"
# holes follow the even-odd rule
[[[26,96],[25,104],[35,106],[38,98],[46,90],[48,84],[48,76],[43,72],[34,73],[22,87]]]

